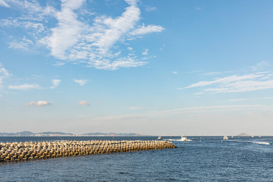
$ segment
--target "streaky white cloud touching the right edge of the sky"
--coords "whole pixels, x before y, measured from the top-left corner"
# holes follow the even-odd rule
[[[208,87],[211,85],[216,86]],[[214,78],[212,81],[200,81],[184,88],[192,87],[201,87],[201,94],[250,92],[253,90],[273,88],[273,75],[269,72],[231,75],[223,78]]]

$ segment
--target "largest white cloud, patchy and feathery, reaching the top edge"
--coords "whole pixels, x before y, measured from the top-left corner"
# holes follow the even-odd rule
[[[2,0],[3,1],[3,0]],[[118,43],[152,32],[161,32],[160,25],[138,26],[141,11],[135,0],[125,0],[128,7],[118,17],[92,14],[94,21],[87,21],[79,11],[85,0],[61,1],[61,8],[50,5],[42,7],[38,1],[9,0],[12,8],[23,9],[21,17],[0,21],[3,28],[24,28],[26,37],[13,39],[10,48],[31,50],[45,46],[50,54],[60,60],[87,64],[87,67],[116,70],[147,64],[138,55],[121,54]],[[50,4],[50,2],[48,3]],[[56,6],[53,4],[53,6]],[[48,19],[56,19],[57,25],[50,26]],[[63,65],[56,62],[53,66]]]

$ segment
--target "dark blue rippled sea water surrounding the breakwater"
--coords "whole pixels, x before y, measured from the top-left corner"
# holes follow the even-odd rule
[[[133,136],[114,140],[155,139]],[[172,141],[176,149],[2,162],[0,181],[273,181],[273,145],[266,145],[273,142],[273,136],[221,139],[195,136],[192,142]],[[0,137],[0,142],[57,140],[113,139]]]

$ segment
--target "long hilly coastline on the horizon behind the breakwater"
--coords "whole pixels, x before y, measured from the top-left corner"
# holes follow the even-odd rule
[[[94,133],[84,133],[84,134],[72,134],[64,132],[39,132],[33,133],[31,131],[21,131],[16,133],[7,133],[0,132],[0,136],[147,136],[140,133],[103,133],[103,132],[94,132]]]

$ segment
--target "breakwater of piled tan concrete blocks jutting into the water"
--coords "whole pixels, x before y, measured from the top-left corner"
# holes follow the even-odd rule
[[[176,148],[167,141],[57,141],[0,144],[0,161]]]

